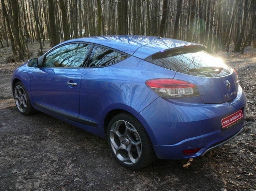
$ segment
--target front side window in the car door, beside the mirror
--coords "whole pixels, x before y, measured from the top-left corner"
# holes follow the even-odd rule
[[[93,45],[76,43],[61,46],[45,57],[44,67],[82,67]]]

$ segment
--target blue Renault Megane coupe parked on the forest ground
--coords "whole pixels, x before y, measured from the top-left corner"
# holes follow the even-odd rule
[[[68,40],[16,68],[12,90],[21,114],[39,110],[107,138],[132,170],[203,156],[245,125],[237,72],[205,46],[169,38]]]

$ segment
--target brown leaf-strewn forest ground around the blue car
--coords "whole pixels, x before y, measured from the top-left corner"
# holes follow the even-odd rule
[[[29,45],[37,56],[38,43]],[[45,45],[44,52],[49,45]],[[111,156],[106,139],[38,112],[19,114],[11,92],[11,48],[0,49],[0,190],[234,191],[256,190],[256,52],[215,52],[239,75],[247,96],[240,136],[207,155],[160,160],[130,171]]]

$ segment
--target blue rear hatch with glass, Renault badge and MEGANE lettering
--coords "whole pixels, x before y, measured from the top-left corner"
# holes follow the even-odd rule
[[[145,60],[176,71],[174,79],[197,86],[203,103],[218,104],[237,97],[238,76],[222,59],[192,45],[169,49],[148,56]]]

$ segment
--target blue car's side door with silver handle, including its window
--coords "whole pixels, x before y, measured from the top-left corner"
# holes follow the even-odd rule
[[[31,75],[34,106],[72,121],[77,119],[81,76],[92,47],[66,44],[45,55],[42,67],[35,68]]]

